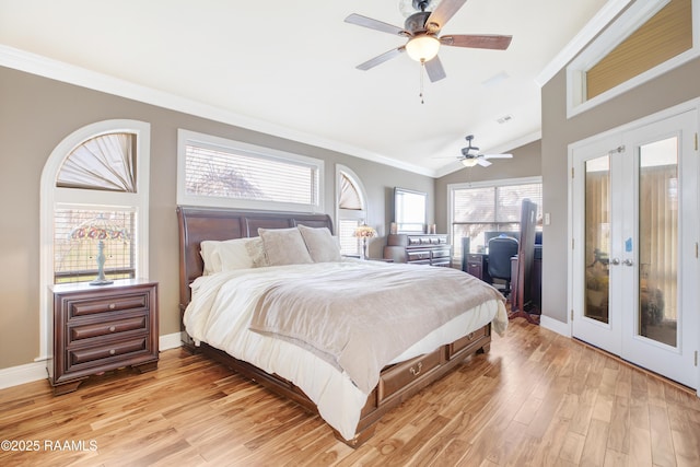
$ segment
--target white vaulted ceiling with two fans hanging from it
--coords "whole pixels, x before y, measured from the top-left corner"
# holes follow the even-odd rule
[[[214,118],[438,176],[460,167],[467,135],[482,152],[539,138],[536,79],[607,2],[468,0],[441,34],[513,42],[505,51],[443,46],[447,78],[425,78],[424,104],[420,66],[407,55],[354,68],[405,39],[343,19],[402,27],[399,0],[0,0],[0,45],[197,103]]]

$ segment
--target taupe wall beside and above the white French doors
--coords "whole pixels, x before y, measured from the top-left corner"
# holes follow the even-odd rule
[[[565,73],[542,87],[542,205],[551,214],[544,227],[542,314],[567,323],[568,147],[700,96],[700,59],[642,84],[567,120]]]

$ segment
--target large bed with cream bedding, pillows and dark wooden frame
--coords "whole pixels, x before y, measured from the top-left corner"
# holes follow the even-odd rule
[[[184,346],[319,413],[352,447],[508,326],[502,295],[462,271],[340,257],[326,214],[177,218]]]

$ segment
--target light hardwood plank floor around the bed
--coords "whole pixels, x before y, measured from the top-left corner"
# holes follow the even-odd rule
[[[3,466],[697,467],[700,399],[517,318],[358,450],[319,417],[180,349],[161,353],[155,372],[122,370],[65,396],[46,382],[0,390],[0,440],[38,442],[0,451]]]

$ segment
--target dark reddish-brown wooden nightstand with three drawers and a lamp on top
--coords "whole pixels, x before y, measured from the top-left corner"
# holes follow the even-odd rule
[[[50,289],[47,371],[55,395],[75,390],[88,376],[105,371],[158,367],[158,282],[126,279]]]

